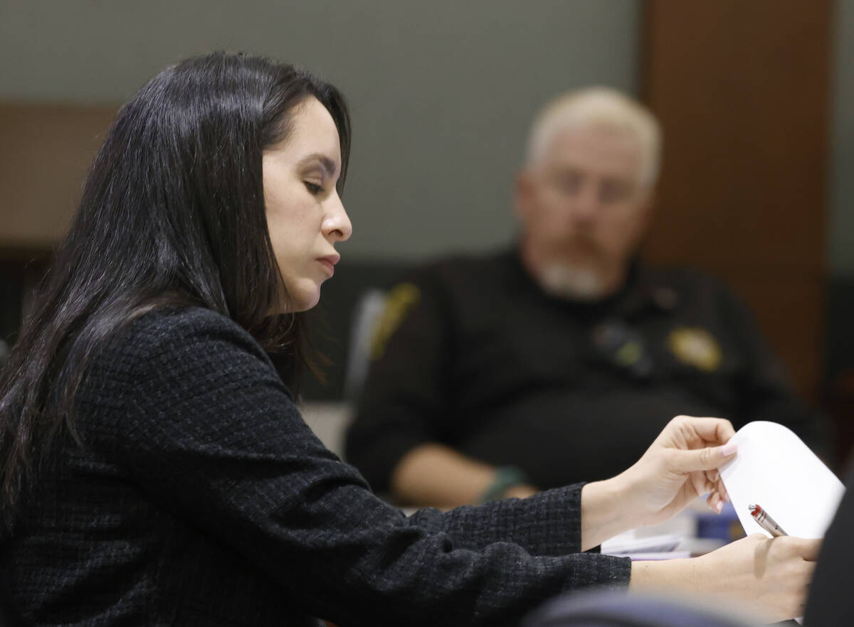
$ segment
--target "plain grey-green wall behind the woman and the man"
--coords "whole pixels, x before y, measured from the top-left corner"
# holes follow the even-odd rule
[[[574,86],[634,92],[639,14],[638,0],[0,0],[0,99],[121,102],[208,49],[299,63],[353,109],[342,253],[411,260],[512,237],[530,117]]]

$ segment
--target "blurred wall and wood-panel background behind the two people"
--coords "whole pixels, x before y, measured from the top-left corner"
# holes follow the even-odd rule
[[[354,236],[317,312],[342,398],[360,294],[512,240],[532,116],[590,84],[664,126],[645,257],[720,276],[798,390],[854,442],[854,3],[810,0],[0,0],[0,338],[12,345],[121,102],[172,61],[242,49],[348,96]],[[2,352],[2,348],[0,348]],[[840,452],[841,456],[841,452]]]

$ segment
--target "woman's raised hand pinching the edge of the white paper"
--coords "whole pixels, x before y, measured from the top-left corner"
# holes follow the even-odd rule
[[[667,520],[701,494],[720,511],[729,496],[717,468],[733,458],[734,435],[721,418],[676,416],[634,466],[582,488],[582,550]]]

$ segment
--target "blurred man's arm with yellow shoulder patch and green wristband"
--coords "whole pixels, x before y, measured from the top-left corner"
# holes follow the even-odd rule
[[[406,504],[452,508],[484,496],[529,496],[535,488],[522,478],[463,456],[449,442],[453,311],[453,297],[435,269],[389,292],[348,431],[348,462],[374,490]]]

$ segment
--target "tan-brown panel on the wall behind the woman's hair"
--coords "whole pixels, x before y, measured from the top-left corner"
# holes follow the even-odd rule
[[[117,109],[0,105],[0,247],[56,245]]]

